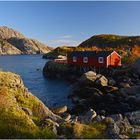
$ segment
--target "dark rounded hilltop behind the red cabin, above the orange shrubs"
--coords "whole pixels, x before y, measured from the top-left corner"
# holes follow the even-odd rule
[[[79,47],[119,47],[121,45],[140,45],[140,36],[120,36],[113,34],[94,35],[82,42]]]

